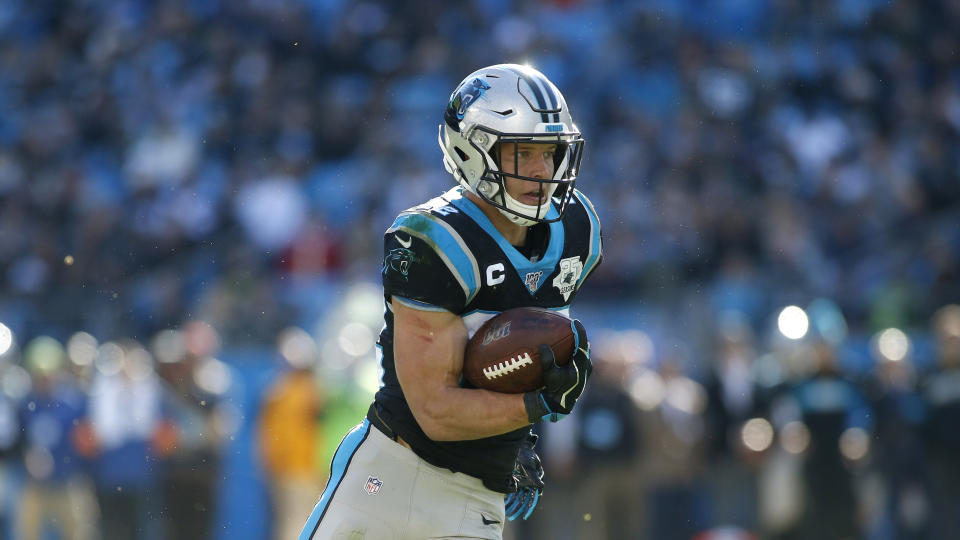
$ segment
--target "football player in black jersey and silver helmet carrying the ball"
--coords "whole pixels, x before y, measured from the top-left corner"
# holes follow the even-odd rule
[[[597,213],[574,188],[583,138],[560,91],[530,67],[480,69],[450,96],[439,143],[458,186],[384,235],[382,386],[301,540],[501,538],[543,489],[531,424],[569,414],[590,375],[574,321],[569,364],[540,348],[541,390],[490,392],[461,376],[481,324],[523,306],[569,316],[602,258]]]

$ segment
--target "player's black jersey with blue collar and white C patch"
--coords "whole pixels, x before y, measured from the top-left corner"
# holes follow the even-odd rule
[[[569,316],[570,303],[603,256],[597,213],[582,193],[574,193],[561,220],[534,227],[547,230],[538,231],[544,244],[532,258],[510,245],[459,187],[402,212],[384,234],[382,380],[370,414],[379,415],[377,421],[428,463],[480,478],[497,491],[510,490],[517,450],[529,430],[470,441],[429,439],[397,380],[391,299],[460,315],[469,336],[511,308],[540,307]],[[548,218],[556,212],[551,209]]]

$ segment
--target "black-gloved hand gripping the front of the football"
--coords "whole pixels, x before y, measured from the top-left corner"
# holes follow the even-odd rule
[[[557,422],[570,414],[593,371],[587,331],[577,319],[574,319],[571,324],[576,341],[570,363],[565,366],[557,365],[553,350],[548,345],[540,346],[544,387],[539,391],[527,392],[523,396],[527,419],[531,424],[541,420]]]

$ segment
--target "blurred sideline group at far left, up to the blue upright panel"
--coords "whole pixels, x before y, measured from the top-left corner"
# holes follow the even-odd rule
[[[20,363],[0,366],[0,536],[210,537],[236,416],[219,403],[230,378],[211,356],[214,336],[202,323],[149,349],[38,336]]]

